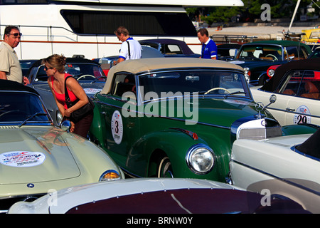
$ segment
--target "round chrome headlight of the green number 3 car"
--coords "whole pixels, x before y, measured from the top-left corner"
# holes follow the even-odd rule
[[[186,163],[196,174],[205,175],[213,169],[215,164],[214,152],[208,145],[193,145],[187,152]]]

